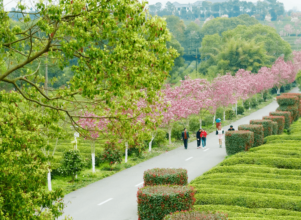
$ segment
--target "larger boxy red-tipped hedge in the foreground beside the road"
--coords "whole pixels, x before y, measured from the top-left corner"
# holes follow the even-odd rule
[[[137,192],[138,220],[162,220],[171,212],[191,210],[195,192],[192,186],[142,187]]]

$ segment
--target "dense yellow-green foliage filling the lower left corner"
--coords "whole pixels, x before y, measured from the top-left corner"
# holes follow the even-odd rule
[[[50,158],[39,129],[51,117],[24,111],[21,102],[15,92],[0,92],[0,219],[52,220],[63,213],[64,195],[45,189]]]

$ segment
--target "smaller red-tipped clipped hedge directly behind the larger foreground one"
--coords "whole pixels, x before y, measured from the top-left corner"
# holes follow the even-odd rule
[[[144,186],[155,185],[187,185],[188,175],[187,169],[175,168],[154,168],[144,171]]]

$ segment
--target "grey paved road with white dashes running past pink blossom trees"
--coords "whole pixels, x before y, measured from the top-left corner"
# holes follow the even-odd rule
[[[298,88],[294,88],[291,92],[299,93]],[[262,119],[262,116],[275,111],[277,107],[278,104],[273,101],[268,106],[232,123],[233,128],[237,130],[238,125],[249,124],[252,119]],[[228,126],[223,129],[228,130]],[[71,204],[64,209],[64,215],[70,215],[74,220],[137,220],[136,193],[138,187],[143,185],[144,171],[155,167],[185,168],[188,170],[190,182],[219,164],[226,156],[224,142],[220,148],[214,133],[207,135],[206,149],[197,149],[197,141],[189,142],[187,150],[183,145],[67,194],[64,201],[70,201]]]

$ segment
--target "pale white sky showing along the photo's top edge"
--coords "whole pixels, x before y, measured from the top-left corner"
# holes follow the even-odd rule
[[[20,0],[19,0],[20,1]],[[33,0],[23,0],[25,2],[32,2]],[[23,2],[22,1],[22,2]],[[197,0],[169,0],[171,3],[178,2],[180,4],[188,4],[188,3],[194,3]],[[257,0],[246,0],[247,2],[257,2]],[[6,10],[11,10],[12,7],[16,7],[18,0],[3,0],[4,8]],[[161,2],[163,7],[165,7],[166,0],[148,0],[149,5],[154,5],[157,2]],[[300,0],[278,0],[278,2],[282,2],[284,4],[284,9],[286,11],[293,9],[294,6],[296,6],[299,11],[301,11],[301,1]]]

